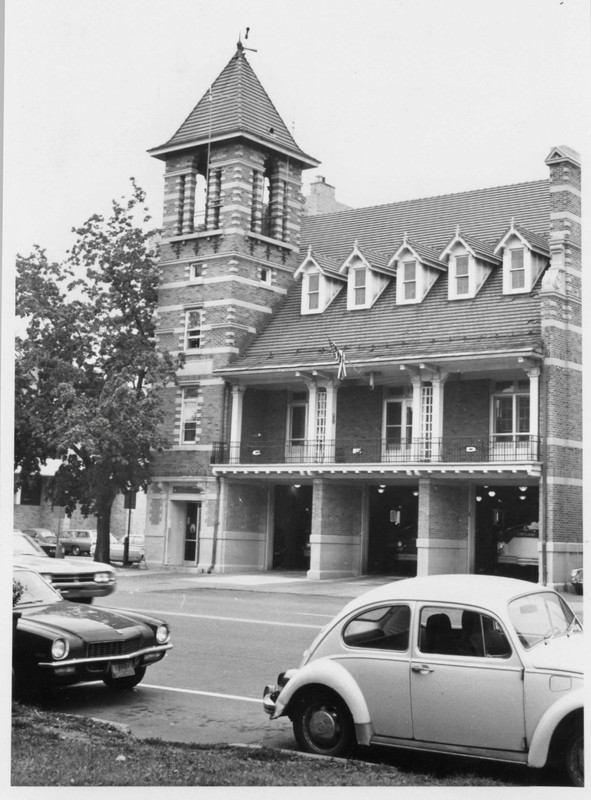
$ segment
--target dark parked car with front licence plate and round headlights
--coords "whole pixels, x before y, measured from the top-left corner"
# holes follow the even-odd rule
[[[172,647],[170,629],[159,619],[70,603],[34,570],[17,568],[13,576],[21,592],[13,609],[16,696],[81,681],[131,688]]]

